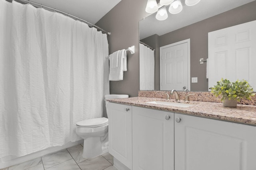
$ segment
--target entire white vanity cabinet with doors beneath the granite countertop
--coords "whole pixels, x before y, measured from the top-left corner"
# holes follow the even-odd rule
[[[109,152],[130,170],[256,170],[256,126],[114,103],[108,109]]]

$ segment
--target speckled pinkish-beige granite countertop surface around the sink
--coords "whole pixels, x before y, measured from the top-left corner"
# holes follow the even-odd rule
[[[224,121],[232,121],[236,123],[244,123],[256,126],[256,106],[238,104],[237,107],[224,107],[222,103],[214,102],[195,102],[195,101],[175,101],[165,100],[162,98],[146,98],[133,97],[123,99],[107,100],[112,103],[125,104],[131,106],[146,107],[150,109],[158,109],[164,111],[172,111],[176,113],[184,113],[188,115],[196,115],[212,119],[220,119]],[[165,101],[165,102],[180,102],[192,104],[190,107],[165,106],[160,104],[149,104],[145,102]]]

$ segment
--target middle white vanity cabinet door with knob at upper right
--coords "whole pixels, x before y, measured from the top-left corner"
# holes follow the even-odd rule
[[[174,170],[174,113],[132,106],[132,169]]]

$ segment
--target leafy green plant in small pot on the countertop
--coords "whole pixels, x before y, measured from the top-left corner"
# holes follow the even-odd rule
[[[252,86],[246,80],[236,80],[236,82],[230,82],[227,79],[221,79],[217,82],[217,85],[211,88],[211,92],[215,96],[222,95],[221,101],[223,106],[236,107],[237,101],[246,98],[251,100],[250,96],[254,96]]]

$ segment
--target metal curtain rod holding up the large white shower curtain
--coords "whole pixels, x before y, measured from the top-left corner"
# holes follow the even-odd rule
[[[79,17],[70,15],[70,14],[68,14],[68,13],[66,13],[66,12],[63,12],[63,11],[60,11],[60,10],[56,10],[55,8],[51,8],[51,7],[49,7],[49,6],[45,6],[45,5],[42,5],[42,4],[38,4],[38,3],[32,2],[32,1],[30,1],[30,0],[18,0],[18,1],[26,2],[26,3],[31,4],[31,5],[40,6],[41,8],[44,7],[44,8],[53,10],[54,12],[59,12],[59,13],[64,14],[64,15],[66,15],[66,16],[70,16],[70,17],[72,17],[72,18],[76,18],[76,19],[78,19],[79,21],[83,21],[83,22],[85,22],[85,23],[87,23],[87,24],[89,24],[89,25],[92,25],[92,27],[95,27],[95,28],[97,28],[97,29],[100,29],[101,31],[105,32],[107,35],[110,35],[110,32],[105,31],[104,29],[98,27],[97,25],[94,25],[94,24],[92,24],[92,23],[90,23],[90,22],[88,22],[88,21],[85,21],[85,20],[83,20],[83,19],[81,19],[81,18],[79,18]]]

